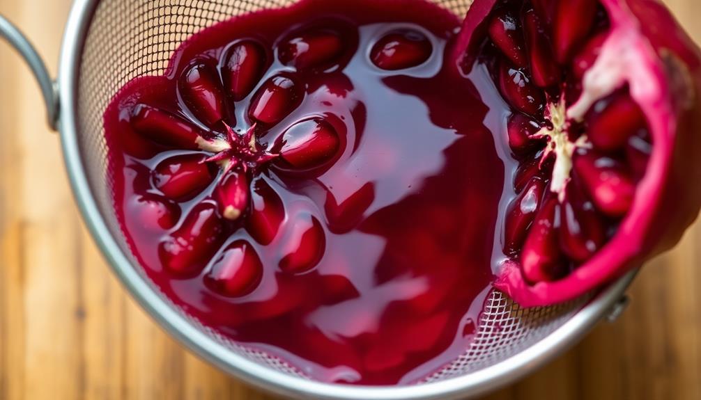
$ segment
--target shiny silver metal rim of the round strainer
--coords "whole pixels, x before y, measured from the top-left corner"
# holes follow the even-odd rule
[[[131,264],[111,236],[88,184],[77,135],[77,88],[83,45],[99,1],[74,1],[64,32],[57,78],[61,104],[58,126],[64,164],[76,203],[102,255],[131,297],[179,343],[232,376],[264,390],[306,399],[418,400],[475,397],[526,376],[575,344],[609,313],[632,282],[635,271],[603,290],[552,334],[522,352],[465,376],[435,383],[404,387],[318,383],[275,371],[231,352],[222,343],[197,329],[154,291],[147,278],[138,273],[138,266]]]

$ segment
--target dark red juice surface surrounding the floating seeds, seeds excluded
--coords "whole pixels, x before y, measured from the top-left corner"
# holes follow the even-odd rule
[[[493,280],[493,260],[501,257],[495,238],[500,203],[512,194],[505,189],[512,164],[491,134],[503,131],[508,111],[489,74],[465,78],[444,65],[459,24],[421,0],[306,0],[206,29],[177,50],[165,76],[128,84],[105,114],[109,172],[118,219],[148,276],[203,324],[317,380],[409,383],[463,353]],[[318,25],[341,34],[336,64],[314,72],[283,65],[273,50],[280,38]],[[398,28],[422,32],[430,58],[410,69],[381,70],[369,52]],[[259,86],[281,71],[304,83],[301,105],[282,122],[257,127],[259,142],[270,145],[295,122],[323,116],[341,150],[322,172],[288,173],[272,164],[256,172],[252,185],[264,180],[279,194],[286,220],[268,245],[253,240],[245,223],[224,223],[217,248],[245,239],[264,266],[250,294],[231,298],[205,285],[216,256],[186,275],[163,268],[161,242],[194,206],[210,201],[215,184],[173,202],[175,228],[146,229],[136,199],[161,196],[151,171],[166,157],[200,152],[137,138],[130,113],[146,103],[195,120],[177,93],[177,78],[192,59],[221,60],[242,38],[271,49]],[[247,108],[255,92],[229,99],[226,121],[236,131],[252,126]],[[354,196],[365,201],[350,216],[329,213]],[[310,216],[325,234],[322,259],[306,273],[283,271],[285,235]]]

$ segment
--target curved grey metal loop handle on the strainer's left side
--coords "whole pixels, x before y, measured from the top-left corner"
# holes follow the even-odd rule
[[[55,82],[51,79],[44,64],[43,59],[36,52],[36,49],[29,43],[27,36],[0,15],[0,38],[6,39],[17,52],[20,53],[25,62],[29,65],[34,73],[34,78],[39,82],[41,94],[43,95],[44,103],[46,103],[46,114],[48,124],[51,129],[56,130],[58,120],[58,94]]]

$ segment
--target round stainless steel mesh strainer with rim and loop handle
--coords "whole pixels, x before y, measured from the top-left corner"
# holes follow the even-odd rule
[[[333,0],[329,0],[333,1]],[[472,0],[433,0],[458,15]],[[76,0],[54,83],[20,31],[0,17],[4,36],[39,80],[48,120],[61,132],[76,200],[95,241],[133,297],[198,355],[267,390],[303,399],[451,399],[484,394],[521,378],[616,312],[634,273],[597,294],[560,306],[522,309],[493,292],[465,353],[421,382],[396,387],[328,385],[284,360],[232,343],[182,313],[142,273],[114,216],[102,113],[129,80],[163,73],[188,36],[234,15],[291,0]]]

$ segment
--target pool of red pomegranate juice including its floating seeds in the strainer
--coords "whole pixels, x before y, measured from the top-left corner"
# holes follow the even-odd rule
[[[421,0],[305,0],[129,83],[109,174],[149,278],[317,380],[409,383],[458,357],[515,165],[489,72],[444,64],[460,23]]]

